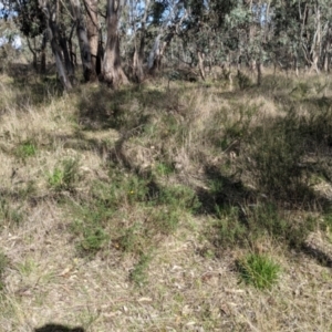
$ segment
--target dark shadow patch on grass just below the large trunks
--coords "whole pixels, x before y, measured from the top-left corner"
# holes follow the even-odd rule
[[[129,85],[112,91],[104,85],[82,96],[79,122],[83,131],[113,128],[121,133],[149,122],[154,112],[170,112],[179,107],[178,89],[147,89]]]

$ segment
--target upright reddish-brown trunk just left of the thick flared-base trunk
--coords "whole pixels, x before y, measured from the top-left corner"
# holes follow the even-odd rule
[[[101,59],[98,59],[98,0],[84,0],[84,7],[87,13],[86,32],[92,63],[90,80],[95,81],[97,79],[97,75],[100,74],[100,70],[97,69],[97,62],[101,61]]]

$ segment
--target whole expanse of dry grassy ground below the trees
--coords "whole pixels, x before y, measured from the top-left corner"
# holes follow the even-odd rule
[[[332,331],[331,89],[1,74],[0,331]]]

